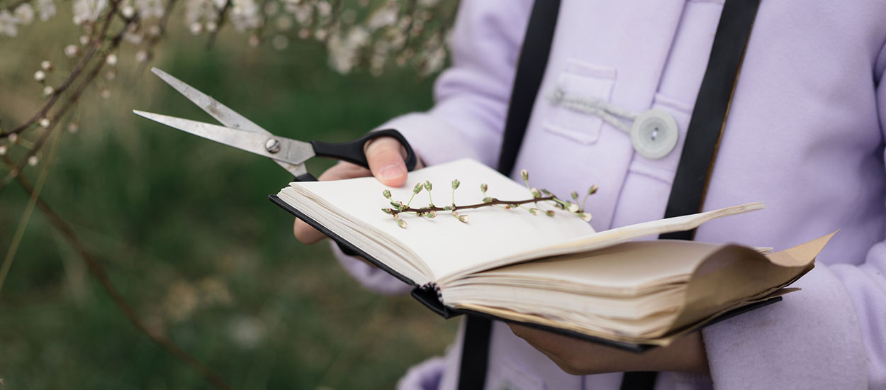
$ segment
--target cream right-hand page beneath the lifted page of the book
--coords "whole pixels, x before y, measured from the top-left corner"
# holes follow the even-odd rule
[[[694,241],[637,241],[476,275],[548,280],[633,292],[673,277],[688,277],[698,264],[722,247]]]

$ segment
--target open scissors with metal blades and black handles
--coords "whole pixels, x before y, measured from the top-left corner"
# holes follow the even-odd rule
[[[195,136],[202,136],[215,142],[226,144],[229,146],[242,149],[246,152],[253,152],[261,156],[274,160],[280,167],[283,167],[292,176],[296,182],[315,182],[317,179],[307,172],[305,161],[315,156],[330,157],[333,159],[344,160],[369,168],[369,162],[366,160],[366,154],[363,152],[363,146],[370,139],[381,136],[392,136],[406,149],[406,168],[413,170],[416,168],[416,153],[412,151],[412,147],[406,141],[399,131],[395,129],[385,129],[370,132],[360,138],[340,143],[330,144],[320,141],[304,142],[295,139],[275,136],[268,130],[262,129],[253,121],[246,119],[234,110],[222,105],[214,98],[203,92],[191,87],[190,85],[176,79],[171,74],[154,67],[151,69],[160,79],[167,82],[172,88],[188,98],[191,103],[198,105],[203,111],[221,122],[224,126],[204,123],[199,121],[190,121],[182,118],[175,118],[159,113],[145,113],[144,111],[133,110],[136,115],[159,123],[165,124],[171,128],[186,131]]]

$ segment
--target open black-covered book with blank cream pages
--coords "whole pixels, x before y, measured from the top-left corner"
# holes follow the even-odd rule
[[[435,218],[400,215],[401,228],[382,208],[381,196],[404,202],[415,183],[434,183],[437,205],[483,199],[481,183],[496,199],[531,199],[516,183],[474,160],[411,172],[403,188],[375,178],[290,183],[271,199],[292,214],[395,277],[416,286],[413,295],[444,316],[464,312],[532,324],[629,349],[667,345],[704,324],[734,315],[792,290],[784,287],[813,267],[830,236],[778,253],[745,246],[653,240],[691,230],[714,218],[763,208],[761,203],[643,222],[596,232],[555,207],[555,215],[523,208],[462,210]],[[427,205],[423,191],[413,204]],[[593,199],[592,199],[593,200]]]

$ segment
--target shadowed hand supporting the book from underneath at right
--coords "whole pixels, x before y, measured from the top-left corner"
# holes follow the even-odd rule
[[[528,326],[508,326],[515,335],[525,339],[572,375],[620,371],[710,372],[702,335],[698,331],[674,340],[668,347],[657,347],[638,354]]]

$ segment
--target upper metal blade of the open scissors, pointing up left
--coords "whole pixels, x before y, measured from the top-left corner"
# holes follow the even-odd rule
[[[216,121],[219,121],[221,124],[225,125],[230,129],[240,129],[245,131],[252,131],[255,133],[263,133],[270,135],[271,133],[255,124],[255,122],[246,119],[245,116],[240,115],[234,110],[231,110],[227,105],[222,105],[221,102],[215,100],[209,95],[201,92],[200,90],[191,87],[188,83],[183,82],[172,74],[167,74],[163,70],[152,67],[151,72],[153,74],[157,74],[157,76],[169,84],[172,88],[175,88],[179,93],[181,93],[185,98],[188,98],[191,103],[200,107],[201,110],[208,113],[212,116]],[[288,162],[284,162],[281,160],[274,160],[280,167],[283,167],[289,173],[295,176],[304,175],[307,173],[307,169],[302,164],[290,164]]]

